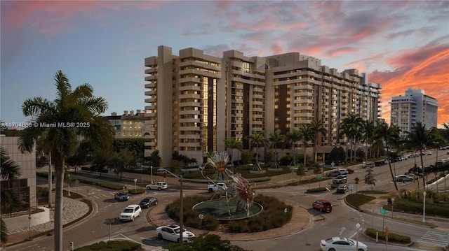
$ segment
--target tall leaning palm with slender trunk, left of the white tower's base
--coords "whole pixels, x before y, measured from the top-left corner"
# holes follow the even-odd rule
[[[373,133],[373,141],[377,147],[380,145],[387,145],[387,157],[388,157],[388,166],[390,168],[391,179],[394,183],[394,188],[396,189],[396,194],[398,194],[399,199],[401,199],[401,194],[398,190],[398,185],[396,184],[396,177],[394,177],[393,169],[391,168],[391,155],[390,155],[390,145],[393,145],[395,141],[399,139],[399,132],[401,130],[395,125],[388,126],[387,123],[383,122],[381,124],[377,124]]]

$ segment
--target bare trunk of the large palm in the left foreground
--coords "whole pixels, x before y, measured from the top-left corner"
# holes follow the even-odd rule
[[[55,194],[55,250],[62,251],[62,198],[64,189],[65,159],[61,158],[60,168],[55,168],[56,194]]]

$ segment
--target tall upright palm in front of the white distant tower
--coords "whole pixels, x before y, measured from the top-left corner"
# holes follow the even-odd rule
[[[408,132],[408,145],[420,152],[423,190],[426,189],[426,182],[424,178],[424,162],[422,160],[422,155],[424,155],[425,152],[423,153],[422,150],[431,147],[433,142],[434,136],[430,133],[430,130],[426,129],[425,125],[422,124],[422,122],[417,122],[411,128],[411,131]]]

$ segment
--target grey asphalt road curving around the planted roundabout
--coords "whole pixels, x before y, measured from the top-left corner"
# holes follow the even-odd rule
[[[440,151],[438,159],[449,157],[445,154],[446,151]],[[434,155],[424,156],[424,164],[434,164],[436,162],[436,152]],[[417,158],[417,165],[420,166],[420,159]],[[413,167],[415,159],[408,159],[403,162],[394,163],[394,169],[396,175],[403,174]],[[354,186],[355,190],[367,190],[371,189],[370,185],[366,185],[363,182],[363,178],[366,174],[366,169],[355,168],[355,172],[348,175],[348,184],[354,184],[354,178],[358,177],[361,182]],[[394,191],[394,185],[391,181],[391,174],[388,165],[374,168],[375,179],[377,180],[375,190],[379,191]],[[40,182],[46,182],[46,179]],[[417,181],[415,181],[417,185]],[[309,187],[318,187],[324,184],[312,183],[311,185],[284,186],[276,189],[256,189],[257,193],[276,196],[283,201],[289,201],[304,208],[307,208],[309,213],[313,216],[313,223],[307,229],[303,231],[292,233],[288,236],[279,238],[272,238],[269,240],[258,241],[232,241],[234,245],[239,245],[246,250],[320,250],[319,241],[322,238],[328,238],[330,236],[347,236],[356,238],[356,223],[361,224],[361,229],[367,227],[374,227],[375,229],[382,229],[382,226],[388,226],[391,232],[398,234],[406,234],[412,238],[413,241],[422,240],[429,234],[428,227],[421,227],[414,224],[405,224],[401,222],[391,221],[388,219],[382,219],[382,217],[373,217],[373,215],[361,213],[353,208],[347,206],[343,201],[345,194],[335,194],[334,192],[326,192],[323,194],[307,194],[305,191]],[[398,183],[398,188],[405,184]],[[417,185],[418,186],[418,185]],[[422,180],[420,182],[422,186]],[[443,188],[443,187],[441,187]],[[75,188],[72,188],[73,191]],[[156,192],[149,191],[146,194],[140,194],[131,196],[129,201],[119,202],[114,200],[114,192],[108,189],[102,189],[100,187],[91,187],[88,185],[79,185],[76,189],[81,194],[87,194],[93,203],[95,203],[95,213],[84,220],[81,224],[76,224],[74,227],[65,229],[63,241],[64,247],[69,247],[70,242],[74,242],[75,248],[96,243],[99,241],[108,241],[109,237],[112,239],[128,239],[133,240],[144,245],[152,246],[154,248],[163,247],[166,245],[166,241],[160,241],[156,238],[155,227],[149,224],[146,219],[146,213],[148,209],[143,209],[142,216],[138,217],[135,222],[120,222],[118,220],[119,213],[128,204],[138,203],[144,196],[156,196],[159,201],[173,201],[179,196],[179,191],[175,189],[168,189],[167,191]],[[201,191],[185,189],[185,193],[196,194]],[[311,203],[316,199],[328,199],[333,203],[332,213],[320,213],[319,211],[311,208]],[[107,223],[108,219],[114,219],[110,224]],[[110,234],[109,234],[110,233]],[[374,250],[426,250],[422,248],[404,247],[398,245],[385,245],[384,243],[375,243],[363,236],[358,235],[359,241],[366,243],[370,251]],[[53,236],[44,236],[29,243],[23,243],[15,245],[5,250],[53,250]],[[151,249],[149,249],[151,250]],[[153,249],[154,250],[154,249]]]

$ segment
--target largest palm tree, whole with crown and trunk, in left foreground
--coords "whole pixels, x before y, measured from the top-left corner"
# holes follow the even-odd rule
[[[93,148],[110,148],[114,139],[111,124],[102,116],[107,103],[102,97],[93,96],[91,85],[79,85],[72,90],[67,76],[58,71],[54,76],[56,99],[42,97],[27,99],[22,104],[25,116],[32,116],[36,127],[28,127],[19,138],[22,152],[31,152],[41,136],[55,159],[55,250],[62,250],[62,189],[65,160],[76,150],[77,135],[90,141]],[[48,126],[51,124],[52,126]]]

